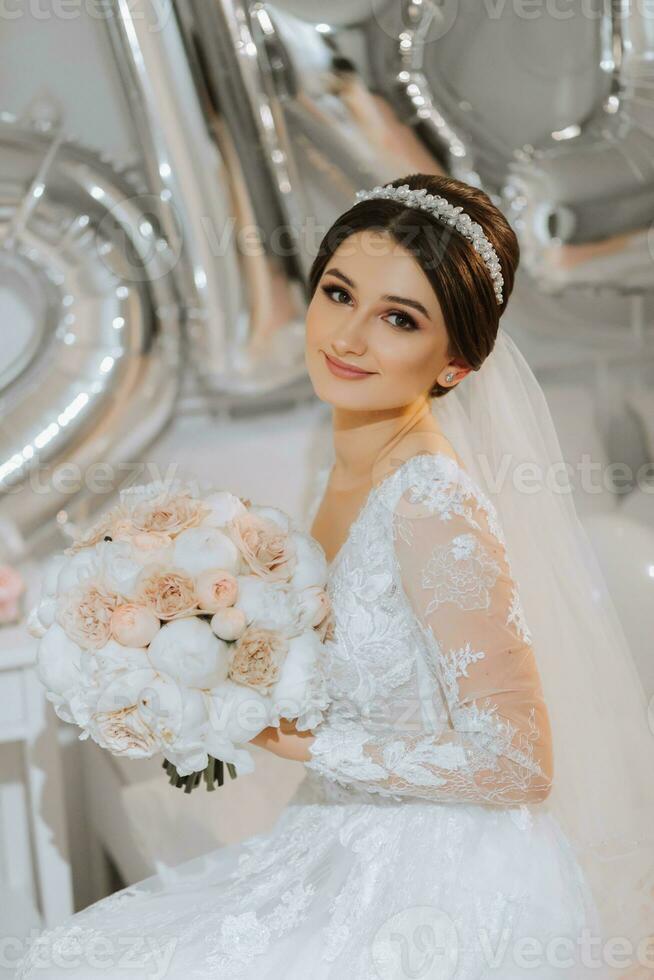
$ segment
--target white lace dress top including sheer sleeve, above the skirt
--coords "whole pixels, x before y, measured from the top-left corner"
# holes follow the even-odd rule
[[[413,456],[371,489],[327,591],[332,703],[302,800],[546,795],[547,715],[502,530],[451,456]]]

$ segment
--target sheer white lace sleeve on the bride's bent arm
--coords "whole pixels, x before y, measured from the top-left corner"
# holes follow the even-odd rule
[[[454,468],[408,486],[392,519],[396,572],[423,637],[427,693],[417,684],[416,697],[437,689],[448,722],[408,732],[334,706],[307,765],[387,795],[536,803],[551,788],[552,755],[531,638],[494,509]]]

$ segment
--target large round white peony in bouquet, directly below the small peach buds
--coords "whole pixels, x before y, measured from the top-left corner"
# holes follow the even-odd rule
[[[164,623],[148,648],[157,670],[189,687],[213,687],[229,669],[228,644],[195,616]]]

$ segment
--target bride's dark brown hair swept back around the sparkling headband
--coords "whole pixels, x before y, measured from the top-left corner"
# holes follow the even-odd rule
[[[520,260],[515,232],[488,194],[462,180],[436,174],[411,174],[388,183],[394,187],[408,184],[411,190],[424,187],[429,194],[439,194],[451,204],[460,205],[481,225],[500,261],[504,279],[502,304],[497,302],[488,269],[471,242],[426,211],[383,198],[359,201],[334,222],[311,266],[309,299],[327,262],[342,242],[358,231],[385,231],[414,255],[429,279],[445,319],[448,356],[460,358],[478,371],[495,345],[500,316],[513,289]],[[429,395],[438,398],[448,391],[450,388],[434,382]]]

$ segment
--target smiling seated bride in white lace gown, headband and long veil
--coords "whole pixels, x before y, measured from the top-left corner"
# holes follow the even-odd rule
[[[518,258],[448,177],[359,192],[329,230],[306,363],[332,406],[331,703],[253,739],[306,778],[268,833],[44,931],[18,980],[653,975],[646,699],[499,326]]]

